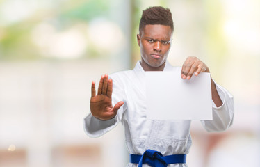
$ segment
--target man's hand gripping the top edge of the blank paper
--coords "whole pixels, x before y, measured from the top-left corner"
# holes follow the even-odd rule
[[[197,76],[200,72],[209,72],[209,67],[197,57],[188,57],[182,65],[181,78],[190,79],[194,73]]]

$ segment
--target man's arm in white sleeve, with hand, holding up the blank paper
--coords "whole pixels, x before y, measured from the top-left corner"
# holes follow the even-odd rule
[[[199,58],[188,57],[181,70],[183,79],[190,79],[193,74],[197,76],[200,72],[209,72],[207,67]],[[234,118],[233,96],[216,84],[211,78],[211,96],[213,100],[213,120],[202,120],[202,125],[209,132],[224,131],[232,125]]]

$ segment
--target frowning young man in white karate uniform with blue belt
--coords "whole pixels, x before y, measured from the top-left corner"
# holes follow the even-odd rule
[[[91,113],[84,120],[86,133],[98,137],[122,122],[130,153],[128,166],[187,166],[191,121],[146,119],[145,71],[179,69],[166,61],[172,33],[170,10],[163,7],[147,8],[140,19],[137,35],[141,60],[136,67],[111,74],[110,79],[107,74],[101,76],[97,94],[95,82],[92,82]],[[193,74],[200,72],[209,72],[209,67],[196,57],[188,57],[180,77],[190,79]],[[209,132],[223,131],[232,124],[233,97],[212,79],[211,93],[213,120],[204,120],[202,125]]]

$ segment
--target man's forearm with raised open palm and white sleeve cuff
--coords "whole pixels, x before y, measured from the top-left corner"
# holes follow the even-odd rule
[[[83,120],[84,130],[90,137],[102,136],[113,129],[120,121],[120,116],[118,116],[117,111],[119,111],[124,104],[124,102],[116,100],[117,104],[113,107],[111,98],[113,81],[112,79],[108,79],[107,74],[102,75],[97,91],[96,94],[95,81],[92,81],[90,98],[91,113]],[[119,97],[115,96],[114,98],[117,99]]]

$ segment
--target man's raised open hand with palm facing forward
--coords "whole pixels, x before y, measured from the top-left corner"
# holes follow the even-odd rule
[[[113,81],[108,74],[102,75],[96,95],[95,81],[92,81],[90,111],[99,120],[110,120],[117,114],[117,110],[124,104],[120,101],[112,106]]]

